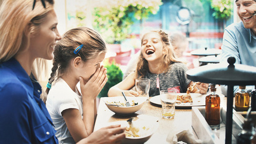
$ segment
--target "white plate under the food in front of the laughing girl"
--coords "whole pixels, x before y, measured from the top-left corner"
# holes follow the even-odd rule
[[[186,95],[187,93],[177,93],[177,95]],[[192,106],[205,106],[205,96],[201,93],[190,93],[193,103],[176,103],[175,107],[191,108]],[[162,105],[160,95],[150,98],[150,102],[156,105]]]

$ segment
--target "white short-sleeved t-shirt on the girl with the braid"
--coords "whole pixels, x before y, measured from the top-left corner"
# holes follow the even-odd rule
[[[61,113],[66,109],[78,109],[83,118],[82,97],[77,89],[74,92],[62,78],[59,78],[48,93],[46,107],[57,131],[55,135],[59,143],[75,143]]]

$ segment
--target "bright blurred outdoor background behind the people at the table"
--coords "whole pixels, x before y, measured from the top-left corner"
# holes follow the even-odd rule
[[[127,63],[140,51],[140,38],[146,31],[182,33],[189,42],[182,57],[193,69],[200,66],[200,57],[190,52],[221,49],[225,27],[239,21],[233,0],[55,0],[55,11],[61,35],[78,26],[93,28],[102,35],[108,47],[104,65],[111,85],[122,80]],[[48,77],[45,74],[41,81],[47,83]]]

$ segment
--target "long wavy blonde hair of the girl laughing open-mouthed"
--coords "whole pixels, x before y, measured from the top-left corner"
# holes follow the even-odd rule
[[[162,71],[164,73],[166,73],[171,64],[179,62],[175,58],[175,55],[173,53],[173,48],[172,48],[173,46],[170,45],[169,36],[162,30],[154,30],[154,31],[150,31],[148,33],[157,33],[161,37],[164,53],[163,53],[163,57],[162,57],[162,63],[159,63],[159,64],[161,64]],[[141,39],[141,45],[143,43],[143,39],[144,39],[145,35],[148,33],[145,33],[143,35],[143,38]],[[148,70],[149,70],[148,62],[145,58],[143,58],[143,55],[140,52],[140,56],[138,57],[137,69],[135,71],[136,77],[144,78],[145,74],[147,73]]]

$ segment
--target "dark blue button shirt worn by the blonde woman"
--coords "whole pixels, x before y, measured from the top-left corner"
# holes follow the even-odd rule
[[[0,64],[0,143],[58,143],[40,94],[16,59]]]

